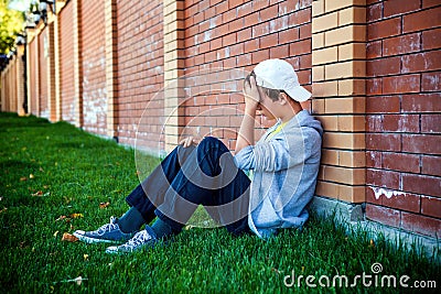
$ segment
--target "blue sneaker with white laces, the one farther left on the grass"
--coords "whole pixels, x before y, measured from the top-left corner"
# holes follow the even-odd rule
[[[74,236],[86,243],[121,243],[130,240],[133,233],[126,233],[119,229],[118,219],[110,217],[110,222],[96,231],[76,230]]]

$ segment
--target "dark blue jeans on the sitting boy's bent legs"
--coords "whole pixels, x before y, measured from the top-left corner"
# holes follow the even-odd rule
[[[250,179],[217,139],[176,146],[126,198],[146,222],[158,216],[179,232],[198,205],[234,235],[249,232]]]

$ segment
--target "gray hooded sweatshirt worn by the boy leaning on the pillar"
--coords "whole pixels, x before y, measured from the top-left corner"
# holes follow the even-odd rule
[[[254,174],[248,225],[260,238],[308,220],[305,206],[315,190],[322,133],[321,123],[302,110],[236,154],[238,168]]]

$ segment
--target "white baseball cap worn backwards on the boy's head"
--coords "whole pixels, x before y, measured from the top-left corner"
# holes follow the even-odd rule
[[[311,92],[300,86],[294,68],[286,61],[263,61],[256,65],[254,72],[257,86],[283,90],[299,102],[306,101],[311,97]]]

